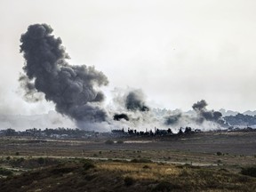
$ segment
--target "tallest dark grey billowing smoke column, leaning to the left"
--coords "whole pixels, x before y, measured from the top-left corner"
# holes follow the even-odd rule
[[[43,92],[45,100],[76,123],[105,121],[106,112],[100,108],[104,95],[98,88],[108,84],[107,76],[94,67],[69,65],[68,53],[52,31],[46,24],[31,25],[20,38],[26,60],[20,82],[26,95]]]

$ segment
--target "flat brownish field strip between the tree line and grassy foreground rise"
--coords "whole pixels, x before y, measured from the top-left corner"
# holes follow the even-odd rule
[[[256,164],[256,133],[196,133],[181,137],[42,140],[0,138],[0,156],[148,158],[194,164]],[[217,154],[218,153],[218,154]]]

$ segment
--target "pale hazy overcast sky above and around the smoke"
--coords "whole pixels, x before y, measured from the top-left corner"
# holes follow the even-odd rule
[[[149,105],[256,109],[254,0],[0,0],[0,109],[45,113],[19,91],[20,35],[47,23],[72,64],[94,65],[115,87],[140,88]]]

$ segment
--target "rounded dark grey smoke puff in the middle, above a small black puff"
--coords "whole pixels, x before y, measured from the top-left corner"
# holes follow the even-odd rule
[[[149,108],[145,105],[143,92],[134,90],[129,92],[125,98],[125,107],[132,111],[148,111]]]

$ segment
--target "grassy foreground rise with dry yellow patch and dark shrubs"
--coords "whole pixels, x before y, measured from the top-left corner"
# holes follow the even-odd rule
[[[2,161],[0,191],[256,191],[256,178],[218,166],[36,158],[18,169],[21,163],[8,162]]]

